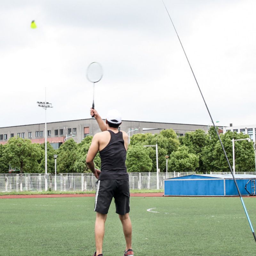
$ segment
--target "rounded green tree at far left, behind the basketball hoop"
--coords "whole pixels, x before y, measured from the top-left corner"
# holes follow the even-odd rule
[[[4,146],[3,158],[6,163],[18,167],[20,173],[31,173],[38,170],[41,151],[31,140],[13,137]]]

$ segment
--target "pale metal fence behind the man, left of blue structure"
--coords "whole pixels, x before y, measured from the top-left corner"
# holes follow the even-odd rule
[[[130,189],[156,189],[156,172],[130,172]],[[164,188],[164,179],[179,177],[195,172],[159,172],[159,189]],[[166,177],[167,176],[167,177]],[[46,179],[45,179],[46,178]],[[44,191],[45,180],[47,188],[57,191],[92,191],[96,190],[97,179],[93,173],[60,173],[54,174],[23,173],[23,174],[0,174],[0,192],[12,191]]]

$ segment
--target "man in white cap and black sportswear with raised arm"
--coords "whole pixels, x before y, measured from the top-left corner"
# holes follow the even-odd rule
[[[86,164],[98,179],[94,208],[96,212],[96,252],[93,256],[103,256],[102,244],[105,233],[105,221],[113,197],[115,198],[116,213],[122,222],[126,241],[124,256],[133,256],[132,223],[129,217],[129,177],[125,166],[128,135],[118,130],[122,120],[117,110],[108,112],[106,124],[95,109],[91,109],[90,114],[91,116],[94,115],[102,131],[94,135],[86,157]],[[93,159],[98,151],[101,158],[101,170],[95,169],[93,163]]]

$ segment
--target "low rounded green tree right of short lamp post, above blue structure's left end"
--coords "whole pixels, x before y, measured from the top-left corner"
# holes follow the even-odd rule
[[[172,152],[168,164],[168,170],[173,172],[194,172],[199,166],[199,157],[188,152],[186,146],[181,146]]]

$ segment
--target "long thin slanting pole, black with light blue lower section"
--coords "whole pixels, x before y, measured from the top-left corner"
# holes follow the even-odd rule
[[[163,4],[164,4],[164,1],[163,1],[163,0],[162,0],[162,2],[163,2]],[[170,16],[170,14],[169,14],[169,12],[168,12],[168,10],[167,10],[165,4],[164,4],[164,7],[165,7],[166,12],[168,13],[168,16],[169,16],[171,22],[172,22],[172,18],[171,18],[171,16]],[[172,26],[173,26],[173,28],[174,28],[174,30],[175,30],[175,33],[176,33],[176,35],[177,35],[177,37],[178,37],[178,39],[179,39],[179,41],[180,41],[180,37],[179,37],[179,35],[178,35],[178,32],[177,32],[177,30],[176,30],[176,28],[175,28],[173,22],[172,22]],[[181,41],[180,41],[180,45],[181,45],[182,50],[183,50],[183,52],[184,52],[184,54],[185,54],[185,56],[186,56],[186,59],[187,59],[187,61],[188,61],[188,65],[189,65],[189,67],[190,67],[190,69],[191,69],[191,71],[192,71],[192,74],[193,74],[193,76],[194,76],[194,78],[195,78],[195,81],[196,81],[197,87],[198,87],[198,89],[199,89],[199,91],[200,91],[200,94],[201,94],[201,96],[202,96],[202,98],[203,98],[203,100],[204,100],[203,93],[202,93],[202,91],[201,91],[201,89],[200,89],[200,87],[199,87],[199,84],[197,83],[196,76],[195,76],[194,71],[193,71],[193,69],[192,69],[192,67],[191,67],[191,65],[190,65],[190,62],[189,62],[189,60],[188,60],[187,54],[186,54],[186,52],[185,52],[185,50],[184,50],[184,48],[183,48],[183,45],[182,45]],[[222,148],[222,150],[223,150],[223,152],[224,152],[224,155],[225,155],[225,157],[226,157],[226,160],[227,160],[227,162],[228,162],[228,167],[229,167],[229,169],[230,169],[230,172],[231,172],[231,174],[232,174],[233,180],[234,180],[234,182],[235,182],[237,192],[238,192],[238,194],[239,194],[239,196],[240,196],[242,205],[243,205],[243,207],[244,207],[244,212],[245,212],[245,214],[246,214],[247,220],[248,220],[249,225],[250,225],[250,228],[251,228],[251,230],[252,230],[252,234],[253,234],[254,240],[255,240],[255,242],[256,242],[256,236],[255,236],[255,233],[254,233],[254,229],[253,229],[253,227],[252,227],[252,223],[251,223],[250,217],[249,217],[248,212],[247,212],[247,210],[246,210],[246,207],[245,207],[245,205],[244,205],[243,197],[242,197],[242,195],[241,195],[241,193],[240,193],[240,190],[239,190],[239,188],[238,188],[238,185],[237,185],[237,183],[236,183],[236,179],[235,179],[234,173],[233,173],[233,171],[232,171],[231,165],[230,165],[230,163],[229,163],[227,153],[226,153],[225,148],[224,148],[224,146],[223,146],[223,144],[222,144],[222,141],[221,141],[221,139],[220,139],[219,132],[217,131],[217,128],[216,128],[216,126],[215,126],[215,124],[214,124],[214,122],[213,122],[212,115],[211,115],[211,113],[210,113],[210,111],[209,111],[209,108],[208,108],[208,106],[207,106],[205,100],[204,100],[204,104],[205,104],[205,107],[207,108],[208,114],[209,114],[209,116],[210,116],[210,118],[211,118],[211,121],[212,121],[212,124],[213,124],[213,126],[214,126],[215,132],[217,133],[217,136],[218,136],[218,138],[219,138],[219,140],[220,140],[221,148]]]

